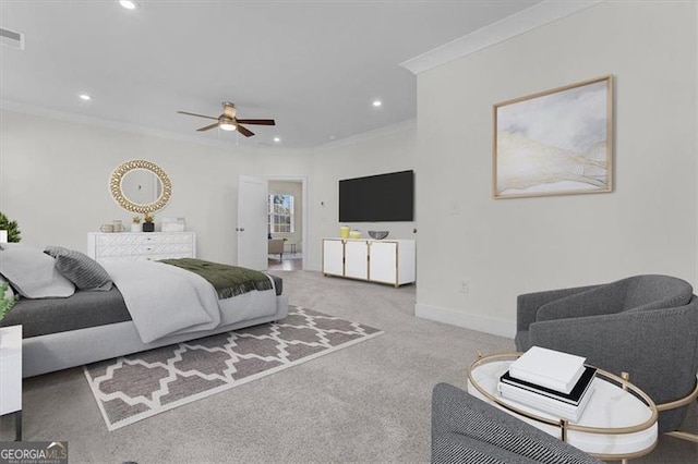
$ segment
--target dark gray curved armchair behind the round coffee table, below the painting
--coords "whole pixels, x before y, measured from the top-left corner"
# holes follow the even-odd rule
[[[626,371],[657,404],[667,403],[696,386],[698,297],[688,282],[669,276],[519,295],[516,347],[533,345]],[[659,430],[676,430],[686,410],[660,413]]]

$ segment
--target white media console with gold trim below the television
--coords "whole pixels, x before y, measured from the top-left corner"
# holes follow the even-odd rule
[[[400,286],[414,282],[413,240],[323,239],[323,273]]]

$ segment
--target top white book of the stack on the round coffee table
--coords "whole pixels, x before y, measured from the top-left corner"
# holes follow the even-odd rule
[[[569,393],[585,371],[585,357],[532,346],[509,366],[509,375]]]

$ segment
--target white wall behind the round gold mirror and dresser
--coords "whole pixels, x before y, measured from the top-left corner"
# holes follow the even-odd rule
[[[86,234],[132,213],[108,188],[113,169],[146,159],[172,182],[170,204],[155,216],[186,218],[203,259],[237,261],[238,175],[264,175],[256,151],[174,141],[71,121],[2,111],[0,210],[16,219],[23,242],[84,251]]]

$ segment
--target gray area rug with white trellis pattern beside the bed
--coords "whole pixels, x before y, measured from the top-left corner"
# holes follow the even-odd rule
[[[268,376],[383,332],[289,305],[270,323],[84,367],[109,430]]]

